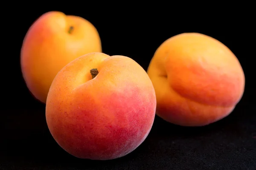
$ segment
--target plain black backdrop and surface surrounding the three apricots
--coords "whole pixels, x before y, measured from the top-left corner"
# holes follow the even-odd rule
[[[100,7],[104,9],[86,4],[81,9],[23,5],[32,7],[17,6],[2,20],[2,48],[6,53],[1,56],[0,170],[256,169],[256,86],[252,81],[255,71],[250,66],[255,58],[255,52],[251,52],[255,29],[248,10],[220,14],[215,9],[209,14],[195,14],[196,10],[174,6],[146,11],[145,6],[135,9],[126,5]],[[230,116],[212,125],[179,127],[156,116],[143,144],[127,156],[110,161],[77,159],[52,138],[45,105],[29,93],[20,71],[20,48],[26,31],[41,14],[53,10],[89,20],[99,31],[104,53],[131,57],[145,70],[157,47],[169,37],[183,32],[214,37],[238,57],[246,78],[244,96]],[[171,13],[173,10],[177,11]]]

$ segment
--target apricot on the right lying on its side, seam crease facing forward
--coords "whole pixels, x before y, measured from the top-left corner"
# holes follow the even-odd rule
[[[239,60],[220,41],[183,33],[157,48],[147,70],[156,114],[176,125],[204,126],[229,115],[244,93]]]

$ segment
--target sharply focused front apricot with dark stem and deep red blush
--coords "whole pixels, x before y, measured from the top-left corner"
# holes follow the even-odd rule
[[[133,59],[83,55],[61,69],[49,89],[46,120],[55,141],[82,159],[116,159],[135,150],[154,122],[156,96]]]

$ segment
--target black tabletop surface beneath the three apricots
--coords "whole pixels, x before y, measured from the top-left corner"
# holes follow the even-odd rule
[[[77,159],[54,141],[41,110],[1,111],[1,170],[255,170],[256,109],[239,104],[225,119],[206,127],[178,127],[156,117],[136,150],[111,161]]]

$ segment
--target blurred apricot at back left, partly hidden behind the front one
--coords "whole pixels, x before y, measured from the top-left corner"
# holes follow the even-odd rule
[[[47,12],[29,28],[21,48],[21,70],[29,91],[45,103],[52,80],[81,55],[102,52],[98,31],[84,18]]]

